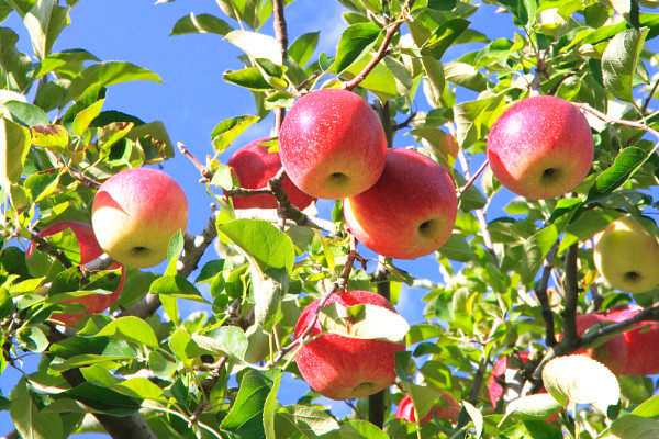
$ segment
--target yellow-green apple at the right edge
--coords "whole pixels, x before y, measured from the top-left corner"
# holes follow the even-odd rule
[[[615,289],[634,294],[659,285],[659,243],[633,216],[614,221],[595,236],[593,258]]]

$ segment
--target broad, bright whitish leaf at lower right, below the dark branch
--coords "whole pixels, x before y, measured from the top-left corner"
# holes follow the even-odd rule
[[[621,398],[615,375],[600,362],[583,356],[557,357],[543,369],[545,389],[566,405],[570,399],[577,404],[592,404],[606,414]]]

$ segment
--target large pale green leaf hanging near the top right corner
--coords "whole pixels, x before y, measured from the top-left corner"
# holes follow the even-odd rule
[[[618,33],[602,54],[602,76],[606,90],[614,97],[633,102],[634,74],[649,27],[629,29]]]

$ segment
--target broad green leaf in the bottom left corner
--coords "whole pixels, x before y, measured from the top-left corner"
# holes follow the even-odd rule
[[[62,436],[62,417],[58,413],[44,413],[38,409],[27,390],[24,378],[10,394],[9,414],[23,439],[52,439]]]

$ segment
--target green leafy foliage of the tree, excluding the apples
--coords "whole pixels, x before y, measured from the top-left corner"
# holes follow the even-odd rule
[[[62,30],[75,25],[69,13],[76,0],[64,5],[0,0],[0,22],[18,14],[34,50],[21,53],[16,32],[0,27],[0,371],[20,368],[23,351],[42,359],[38,370],[0,396],[0,409],[10,412],[18,434],[56,439],[107,430],[121,437],[113,431],[144,425],[142,436],[131,437],[656,437],[659,399],[651,396],[651,380],[615,378],[581,357],[567,359],[567,367],[549,360],[584,347],[579,337],[558,344],[555,338],[573,327],[576,313],[636,301],[648,308],[647,319],[659,317],[651,307],[659,291],[634,297],[614,291],[592,258],[597,232],[623,213],[650,214],[658,201],[659,138],[648,137],[659,137],[659,113],[652,110],[659,58],[646,45],[659,34],[657,3],[487,0],[501,9],[493,20],[512,20],[518,29],[490,41],[471,26],[478,5],[469,1],[338,2],[346,8],[346,27],[334,42],[336,52],[320,55],[317,33],[291,38],[282,52],[281,30],[273,37],[264,26],[282,3],[284,12],[295,8],[293,1],[217,0],[216,15],[192,12],[171,23],[172,37],[211,34],[204,37],[243,53],[243,66],[223,78],[252,91],[254,115],[220,121],[208,146],[215,157],[205,166],[197,162],[217,206],[209,227],[199,236],[175,237],[163,272],[127,270],[110,315],[86,317],[62,331],[49,316],[64,299],[88,293],[97,279],[67,282],[78,272],[70,235],[48,238],[49,246],[27,258],[33,232],[64,219],[89,222],[100,182],[167,160],[175,147],[163,123],[103,108],[113,85],[160,81],[155,72],[100,60],[82,48],[52,52]],[[456,46],[468,48],[451,59]],[[278,227],[283,218],[266,212],[236,217],[221,196],[235,181],[219,154],[303,93],[338,87],[367,98],[392,139],[405,136],[450,169],[460,195],[458,219],[448,243],[431,257],[443,283],[412,279],[395,260],[380,258],[376,270],[375,263],[353,266],[361,257],[344,227],[340,202],[332,218],[283,210],[289,222]],[[488,169],[473,172],[483,164],[496,116],[532,91],[579,103],[593,128],[592,171],[560,199],[513,198]],[[429,111],[418,111],[420,102]],[[269,189],[286,206],[277,183]],[[494,198],[505,199],[506,215],[487,215]],[[652,232],[659,236],[656,227]],[[213,255],[194,271],[204,254]],[[317,404],[313,391],[282,406],[277,396],[282,376],[299,376],[293,356],[302,340],[293,340],[293,327],[300,311],[327,292],[346,286],[384,292],[382,284],[394,303],[404,284],[425,292],[425,320],[409,330],[401,322],[395,328],[360,322],[366,338],[406,330],[407,351],[396,357],[399,379],[383,403],[353,402],[354,414],[343,419]],[[213,313],[182,317],[181,300],[212,305]],[[369,317],[372,309],[348,312],[388,317],[377,312]],[[326,325],[345,329],[338,317],[323,316]],[[533,352],[522,381],[537,389],[545,380],[552,397],[492,407],[484,384],[491,367],[515,350]],[[566,370],[570,373],[561,373]],[[601,380],[587,389],[570,386],[570,380],[595,372]],[[457,425],[394,419],[390,408],[405,392],[423,415],[438,401],[437,390],[462,402]],[[376,404],[383,419],[369,423],[364,418]],[[544,420],[559,408],[567,408],[560,420]],[[83,418],[91,420],[82,424]]]

